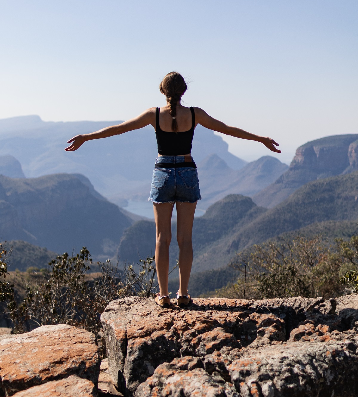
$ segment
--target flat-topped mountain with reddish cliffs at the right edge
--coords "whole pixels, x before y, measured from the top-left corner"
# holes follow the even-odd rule
[[[307,182],[358,170],[358,135],[333,135],[305,143],[290,168],[253,196],[256,204],[273,208]]]

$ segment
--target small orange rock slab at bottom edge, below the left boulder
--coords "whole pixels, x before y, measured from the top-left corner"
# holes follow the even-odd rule
[[[13,397],[97,397],[97,395],[93,382],[71,375],[65,379],[53,380],[19,391]]]

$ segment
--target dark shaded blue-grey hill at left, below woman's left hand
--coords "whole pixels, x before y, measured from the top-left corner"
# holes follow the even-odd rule
[[[123,231],[133,224],[118,206],[94,197],[69,174],[13,179],[0,175],[0,237],[24,240],[54,252],[83,245],[113,256]]]

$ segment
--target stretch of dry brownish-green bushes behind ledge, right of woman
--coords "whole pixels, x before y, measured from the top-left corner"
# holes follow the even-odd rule
[[[336,239],[325,247],[320,236],[254,245],[240,252],[230,266],[240,276],[218,295],[232,298],[330,297],[358,292],[358,236]],[[339,285],[346,288],[342,290]]]

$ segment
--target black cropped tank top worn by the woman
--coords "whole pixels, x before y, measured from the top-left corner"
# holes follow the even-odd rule
[[[174,132],[162,131],[159,126],[160,108],[156,110],[156,137],[158,143],[158,153],[163,156],[179,156],[189,154],[192,148],[192,137],[194,136],[195,113],[191,107],[192,125],[189,131]]]

